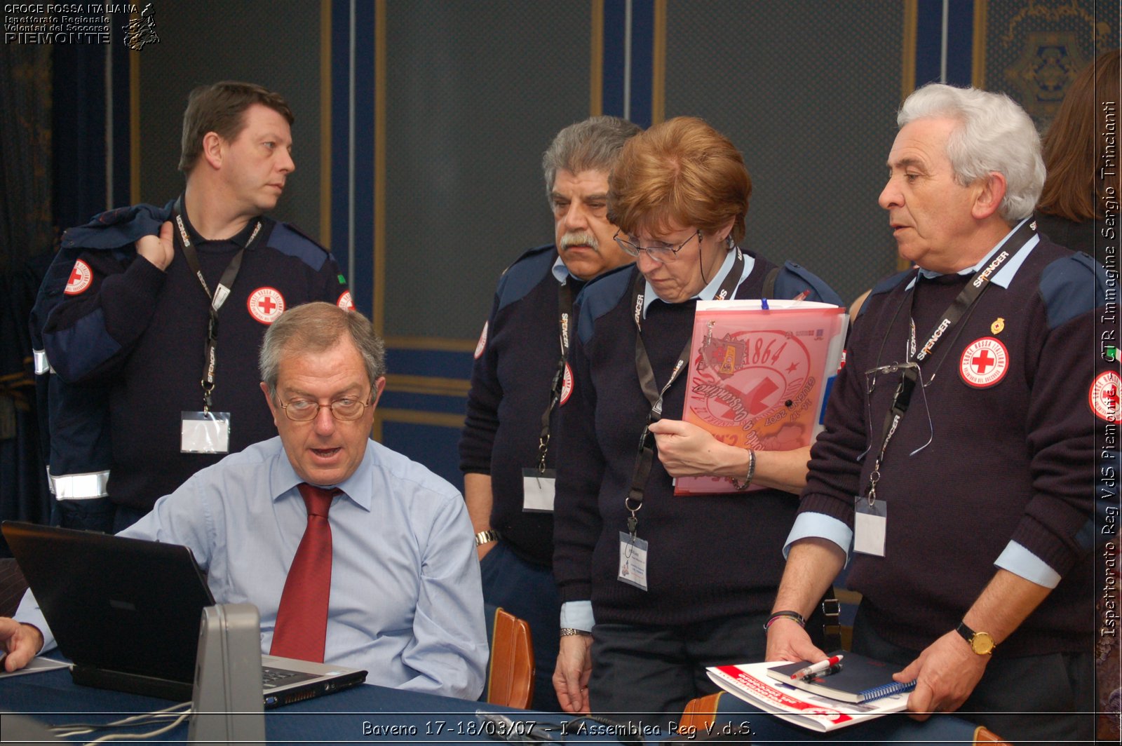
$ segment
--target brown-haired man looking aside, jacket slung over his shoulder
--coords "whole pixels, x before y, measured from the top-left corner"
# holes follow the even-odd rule
[[[199,469],[267,438],[268,408],[247,396],[265,331],[301,303],[351,306],[328,250],[264,217],[296,167],[292,121],[284,98],[259,85],[195,89],[183,194],[63,237],[37,319],[64,525],[119,531]],[[86,451],[89,463],[65,461]]]

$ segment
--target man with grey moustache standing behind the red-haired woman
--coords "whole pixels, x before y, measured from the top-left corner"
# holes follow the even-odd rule
[[[536,710],[560,710],[551,681],[561,615],[552,571],[558,443],[551,435],[572,388],[564,362],[572,302],[587,282],[634,261],[613,240],[608,174],[640,131],[617,117],[592,117],[558,132],[542,157],[554,243],[526,251],[503,273],[476,347],[460,439],[463,498],[484,600],[533,632]]]

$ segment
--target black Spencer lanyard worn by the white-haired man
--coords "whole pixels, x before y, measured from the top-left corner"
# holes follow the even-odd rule
[[[942,312],[939,321],[937,321],[935,326],[931,329],[931,333],[928,334],[927,342],[925,342],[923,347],[918,350],[916,348],[916,321],[912,314],[912,311],[916,307],[916,286],[919,285],[921,279],[917,274],[914,280],[916,285],[912,286],[910,292],[911,297],[908,310],[908,361],[888,366],[888,369],[884,371],[895,372],[899,370],[900,384],[896,385],[896,392],[892,396],[892,404],[889,406],[889,411],[884,415],[884,425],[881,427],[881,448],[877,452],[876,461],[873,463],[873,470],[868,475],[867,499],[870,506],[876,501],[876,482],[880,481],[881,478],[881,463],[884,461],[884,453],[889,449],[889,442],[892,440],[892,436],[896,434],[900,421],[903,420],[904,413],[908,412],[908,405],[911,403],[916,385],[918,384],[921,388],[923,386],[922,371],[920,370],[918,363],[931,357],[939,341],[942,340],[947,335],[947,332],[950,331],[950,329],[957,324],[971,308],[974,307],[974,304],[982,297],[982,294],[990,287],[990,282],[993,279],[993,276],[997,274],[997,270],[1004,267],[1010,259],[1017,256],[1017,252],[1024,248],[1024,245],[1028,243],[1036,234],[1036,222],[1026,220],[1021,227],[1009,237],[1009,240],[1006,240],[1004,246],[1001,247],[997,256],[991,259],[985,267],[974,273],[974,276],[971,277],[968,283],[966,283],[966,287],[964,287],[958,296],[951,301],[950,305],[947,306],[947,310]],[[870,372],[873,372],[875,376],[876,372],[880,371],[880,368],[875,368]],[[934,374],[931,375],[931,378],[935,378]]]

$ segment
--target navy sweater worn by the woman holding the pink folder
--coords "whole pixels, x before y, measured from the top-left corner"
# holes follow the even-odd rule
[[[760,297],[774,265],[756,256],[734,297]],[[616,270],[585,288],[570,356],[573,392],[561,407],[561,458],[553,572],[562,600],[591,599],[597,624],[682,625],[766,611],[783,570],[782,545],[798,498],[779,490],[674,497],[655,457],[638,537],[649,542],[649,590],[617,580],[624,498],[638,435],[651,406],[635,372],[631,288],[638,270]],[[788,263],[774,297],[811,291],[810,300],[840,304],[820,279]],[[643,340],[661,388],[692,335],[697,303],[651,304]],[[671,386],[663,416],[681,420],[686,376]]]

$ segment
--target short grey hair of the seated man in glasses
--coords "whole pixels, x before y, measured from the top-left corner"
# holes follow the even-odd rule
[[[257,366],[269,396],[276,400],[277,376],[286,356],[330,350],[344,335],[362,356],[371,386],[386,375],[386,347],[366,316],[322,301],[305,303],[282,313],[265,332]]]

